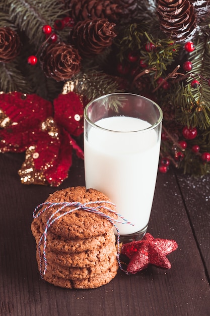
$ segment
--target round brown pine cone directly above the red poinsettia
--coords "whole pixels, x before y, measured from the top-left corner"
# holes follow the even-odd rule
[[[62,42],[49,44],[40,56],[45,75],[56,81],[69,79],[78,73],[80,60],[77,49]]]

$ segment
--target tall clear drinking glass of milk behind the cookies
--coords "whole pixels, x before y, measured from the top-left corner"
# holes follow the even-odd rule
[[[142,239],[148,228],[162,119],[158,104],[130,93],[101,96],[84,110],[86,188],[103,192],[133,224],[116,223],[123,242]]]

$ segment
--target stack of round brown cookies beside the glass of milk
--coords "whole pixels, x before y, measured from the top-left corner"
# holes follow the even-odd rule
[[[108,218],[116,219],[115,207],[101,192],[85,187],[71,187],[51,194],[45,202],[80,202],[94,203],[91,207],[102,205],[100,212]],[[103,202],[101,202],[103,201]],[[61,204],[58,204],[61,205]],[[75,206],[66,206],[56,213],[56,221],[47,230],[46,248],[40,238],[46,230],[47,221],[60,207],[57,204],[46,208],[44,203],[40,216],[32,222],[31,230],[37,244],[37,262],[40,273],[45,281],[65,288],[97,288],[110,282],[118,270],[116,259],[115,235],[110,221],[99,214],[84,209],[68,210]],[[109,208],[109,209],[107,209]],[[67,213],[59,218],[59,215]],[[43,250],[47,265],[43,264]],[[41,262],[40,262],[41,261]],[[40,265],[41,263],[41,265]]]

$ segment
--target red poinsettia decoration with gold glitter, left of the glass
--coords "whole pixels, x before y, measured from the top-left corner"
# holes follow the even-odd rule
[[[0,94],[0,152],[24,152],[22,183],[58,186],[72,166],[73,149],[83,150],[72,136],[83,133],[84,102],[74,92],[53,104],[36,94]]]

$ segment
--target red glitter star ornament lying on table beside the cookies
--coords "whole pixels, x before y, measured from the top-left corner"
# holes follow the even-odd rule
[[[171,264],[166,255],[177,247],[175,240],[154,238],[146,233],[142,240],[124,244],[121,253],[130,259],[127,272],[135,274],[146,269],[149,264],[162,269],[170,269]]]

